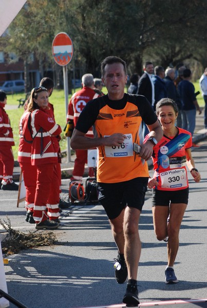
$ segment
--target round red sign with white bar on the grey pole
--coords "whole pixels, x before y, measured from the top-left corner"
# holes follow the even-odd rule
[[[54,61],[61,66],[70,63],[73,56],[73,44],[67,33],[60,32],[55,35],[52,42],[52,55]]]

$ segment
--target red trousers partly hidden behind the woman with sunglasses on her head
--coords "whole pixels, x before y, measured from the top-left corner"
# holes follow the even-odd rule
[[[26,188],[25,207],[33,212],[36,192],[36,166],[32,166],[31,163],[20,163],[20,167]]]

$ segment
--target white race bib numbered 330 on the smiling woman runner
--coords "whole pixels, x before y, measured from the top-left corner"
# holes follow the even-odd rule
[[[184,168],[168,170],[160,173],[162,188],[187,186],[187,175]]]

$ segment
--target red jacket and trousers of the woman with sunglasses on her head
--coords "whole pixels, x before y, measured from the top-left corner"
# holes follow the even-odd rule
[[[31,144],[31,165],[36,167],[36,191],[33,218],[36,223],[57,219],[59,213],[59,176],[57,171],[59,134],[61,127],[47,114],[47,109],[31,112],[31,128],[34,138]],[[42,128],[42,131],[40,129]],[[28,127],[25,131],[29,133]]]

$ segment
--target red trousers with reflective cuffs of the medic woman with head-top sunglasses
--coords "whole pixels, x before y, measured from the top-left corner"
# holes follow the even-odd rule
[[[57,164],[36,166],[36,175],[33,218],[36,223],[46,220],[48,216],[50,220],[57,219],[60,216],[60,179]]]

